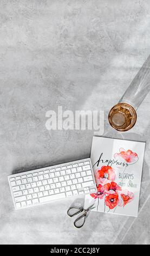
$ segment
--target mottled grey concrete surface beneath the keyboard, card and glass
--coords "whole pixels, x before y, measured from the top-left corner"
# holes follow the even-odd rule
[[[149,95],[128,138],[146,141],[139,217],[92,212],[82,230],[73,199],[15,211],[7,176],[89,157],[93,131],[45,128],[45,112],[105,110],[119,101],[150,50],[150,1],[0,0],[0,243],[146,244]]]

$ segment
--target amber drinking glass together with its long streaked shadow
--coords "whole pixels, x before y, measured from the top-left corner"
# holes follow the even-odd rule
[[[109,112],[109,123],[118,131],[128,131],[136,123],[136,109],[140,106],[150,90],[150,55],[138,74]]]

